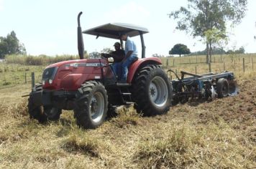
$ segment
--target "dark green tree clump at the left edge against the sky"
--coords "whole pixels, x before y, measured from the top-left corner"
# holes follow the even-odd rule
[[[19,43],[14,31],[7,34],[6,37],[0,37],[0,58],[4,58],[6,54],[26,54],[24,44]]]

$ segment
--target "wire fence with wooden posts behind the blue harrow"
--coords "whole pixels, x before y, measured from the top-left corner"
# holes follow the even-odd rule
[[[205,56],[169,57],[162,58],[162,62],[165,69],[182,69],[196,74],[226,70],[239,73],[251,72],[252,74],[256,72],[256,54],[213,56],[210,64],[206,64]]]

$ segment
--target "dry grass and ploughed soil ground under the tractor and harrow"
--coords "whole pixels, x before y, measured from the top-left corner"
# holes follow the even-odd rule
[[[0,90],[0,168],[255,168],[255,82],[157,117],[122,108],[96,130],[78,128],[71,111],[40,125],[21,97],[28,85]]]

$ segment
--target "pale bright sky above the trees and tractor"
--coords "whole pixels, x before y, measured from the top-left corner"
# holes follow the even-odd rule
[[[83,11],[83,30],[111,22],[137,24],[149,29],[145,34],[146,57],[152,54],[168,56],[175,44],[185,44],[191,52],[206,48],[204,42],[175,29],[176,21],[168,14],[187,0],[0,0],[0,37],[14,31],[27,49],[27,54],[78,54],[77,15]],[[228,29],[230,42],[226,49],[244,47],[256,53],[256,1],[248,0],[248,10],[242,23]],[[139,37],[132,37],[141,51]],[[114,39],[83,35],[88,53],[114,49]]]

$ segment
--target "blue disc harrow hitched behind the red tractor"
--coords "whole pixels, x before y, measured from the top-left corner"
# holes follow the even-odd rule
[[[173,87],[172,105],[185,103],[194,98],[227,97],[236,95],[238,92],[237,84],[234,81],[233,72],[210,72],[206,74],[193,74],[181,71],[181,77],[178,77],[172,69],[168,72],[175,74],[177,79],[171,80]],[[187,77],[185,77],[187,75]]]

